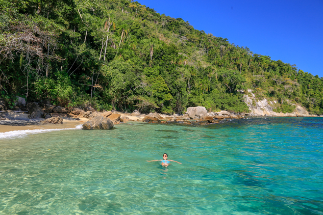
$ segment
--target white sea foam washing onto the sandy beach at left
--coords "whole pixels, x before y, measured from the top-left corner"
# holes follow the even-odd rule
[[[59,130],[75,130],[75,129],[82,129],[82,125],[77,125],[75,128],[13,130],[13,131],[0,133],[0,139],[21,138],[27,135],[34,135],[35,133],[45,133],[45,132],[52,132],[52,131],[59,131]]]

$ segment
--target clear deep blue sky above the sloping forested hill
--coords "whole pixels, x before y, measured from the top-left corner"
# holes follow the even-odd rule
[[[194,29],[323,77],[323,0],[138,0]]]

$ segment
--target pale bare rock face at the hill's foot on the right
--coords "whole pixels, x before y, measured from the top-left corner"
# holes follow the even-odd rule
[[[277,113],[274,112],[274,105],[277,101],[268,101],[267,99],[259,100],[252,93],[252,90],[247,90],[249,94],[243,96],[244,102],[249,106],[252,116],[273,116],[273,117],[317,117],[316,115],[310,115],[306,109],[300,105],[295,105],[295,111],[293,113]]]

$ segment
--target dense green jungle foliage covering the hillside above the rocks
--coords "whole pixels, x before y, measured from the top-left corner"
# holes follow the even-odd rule
[[[247,112],[247,89],[323,113],[323,79],[129,0],[0,0],[0,98],[98,110]]]

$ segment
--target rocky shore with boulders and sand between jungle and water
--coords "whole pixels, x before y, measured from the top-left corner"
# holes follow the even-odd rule
[[[253,98],[254,99],[254,98]],[[245,102],[250,107],[250,113],[234,113],[228,111],[207,112],[205,107],[188,107],[184,115],[165,115],[158,113],[140,114],[137,110],[133,113],[117,111],[98,112],[93,107],[84,109],[68,109],[56,106],[49,102],[26,104],[19,99],[16,109],[19,111],[0,110],[0,132],[22,129],[47,129],[47,128],[73,128],[82,124],[83,129],[112,129],[114,125],[127,122],[146,123],[179,123],[187,125],[208,125],[229,119],[243,119],[253,116],[275,117],[318,117],[310,115],[304,107],[296,105],[293,113],[276,113],[266,100],[253,102],[246,96]],[[320,116],[323,117],[323,116]]]

